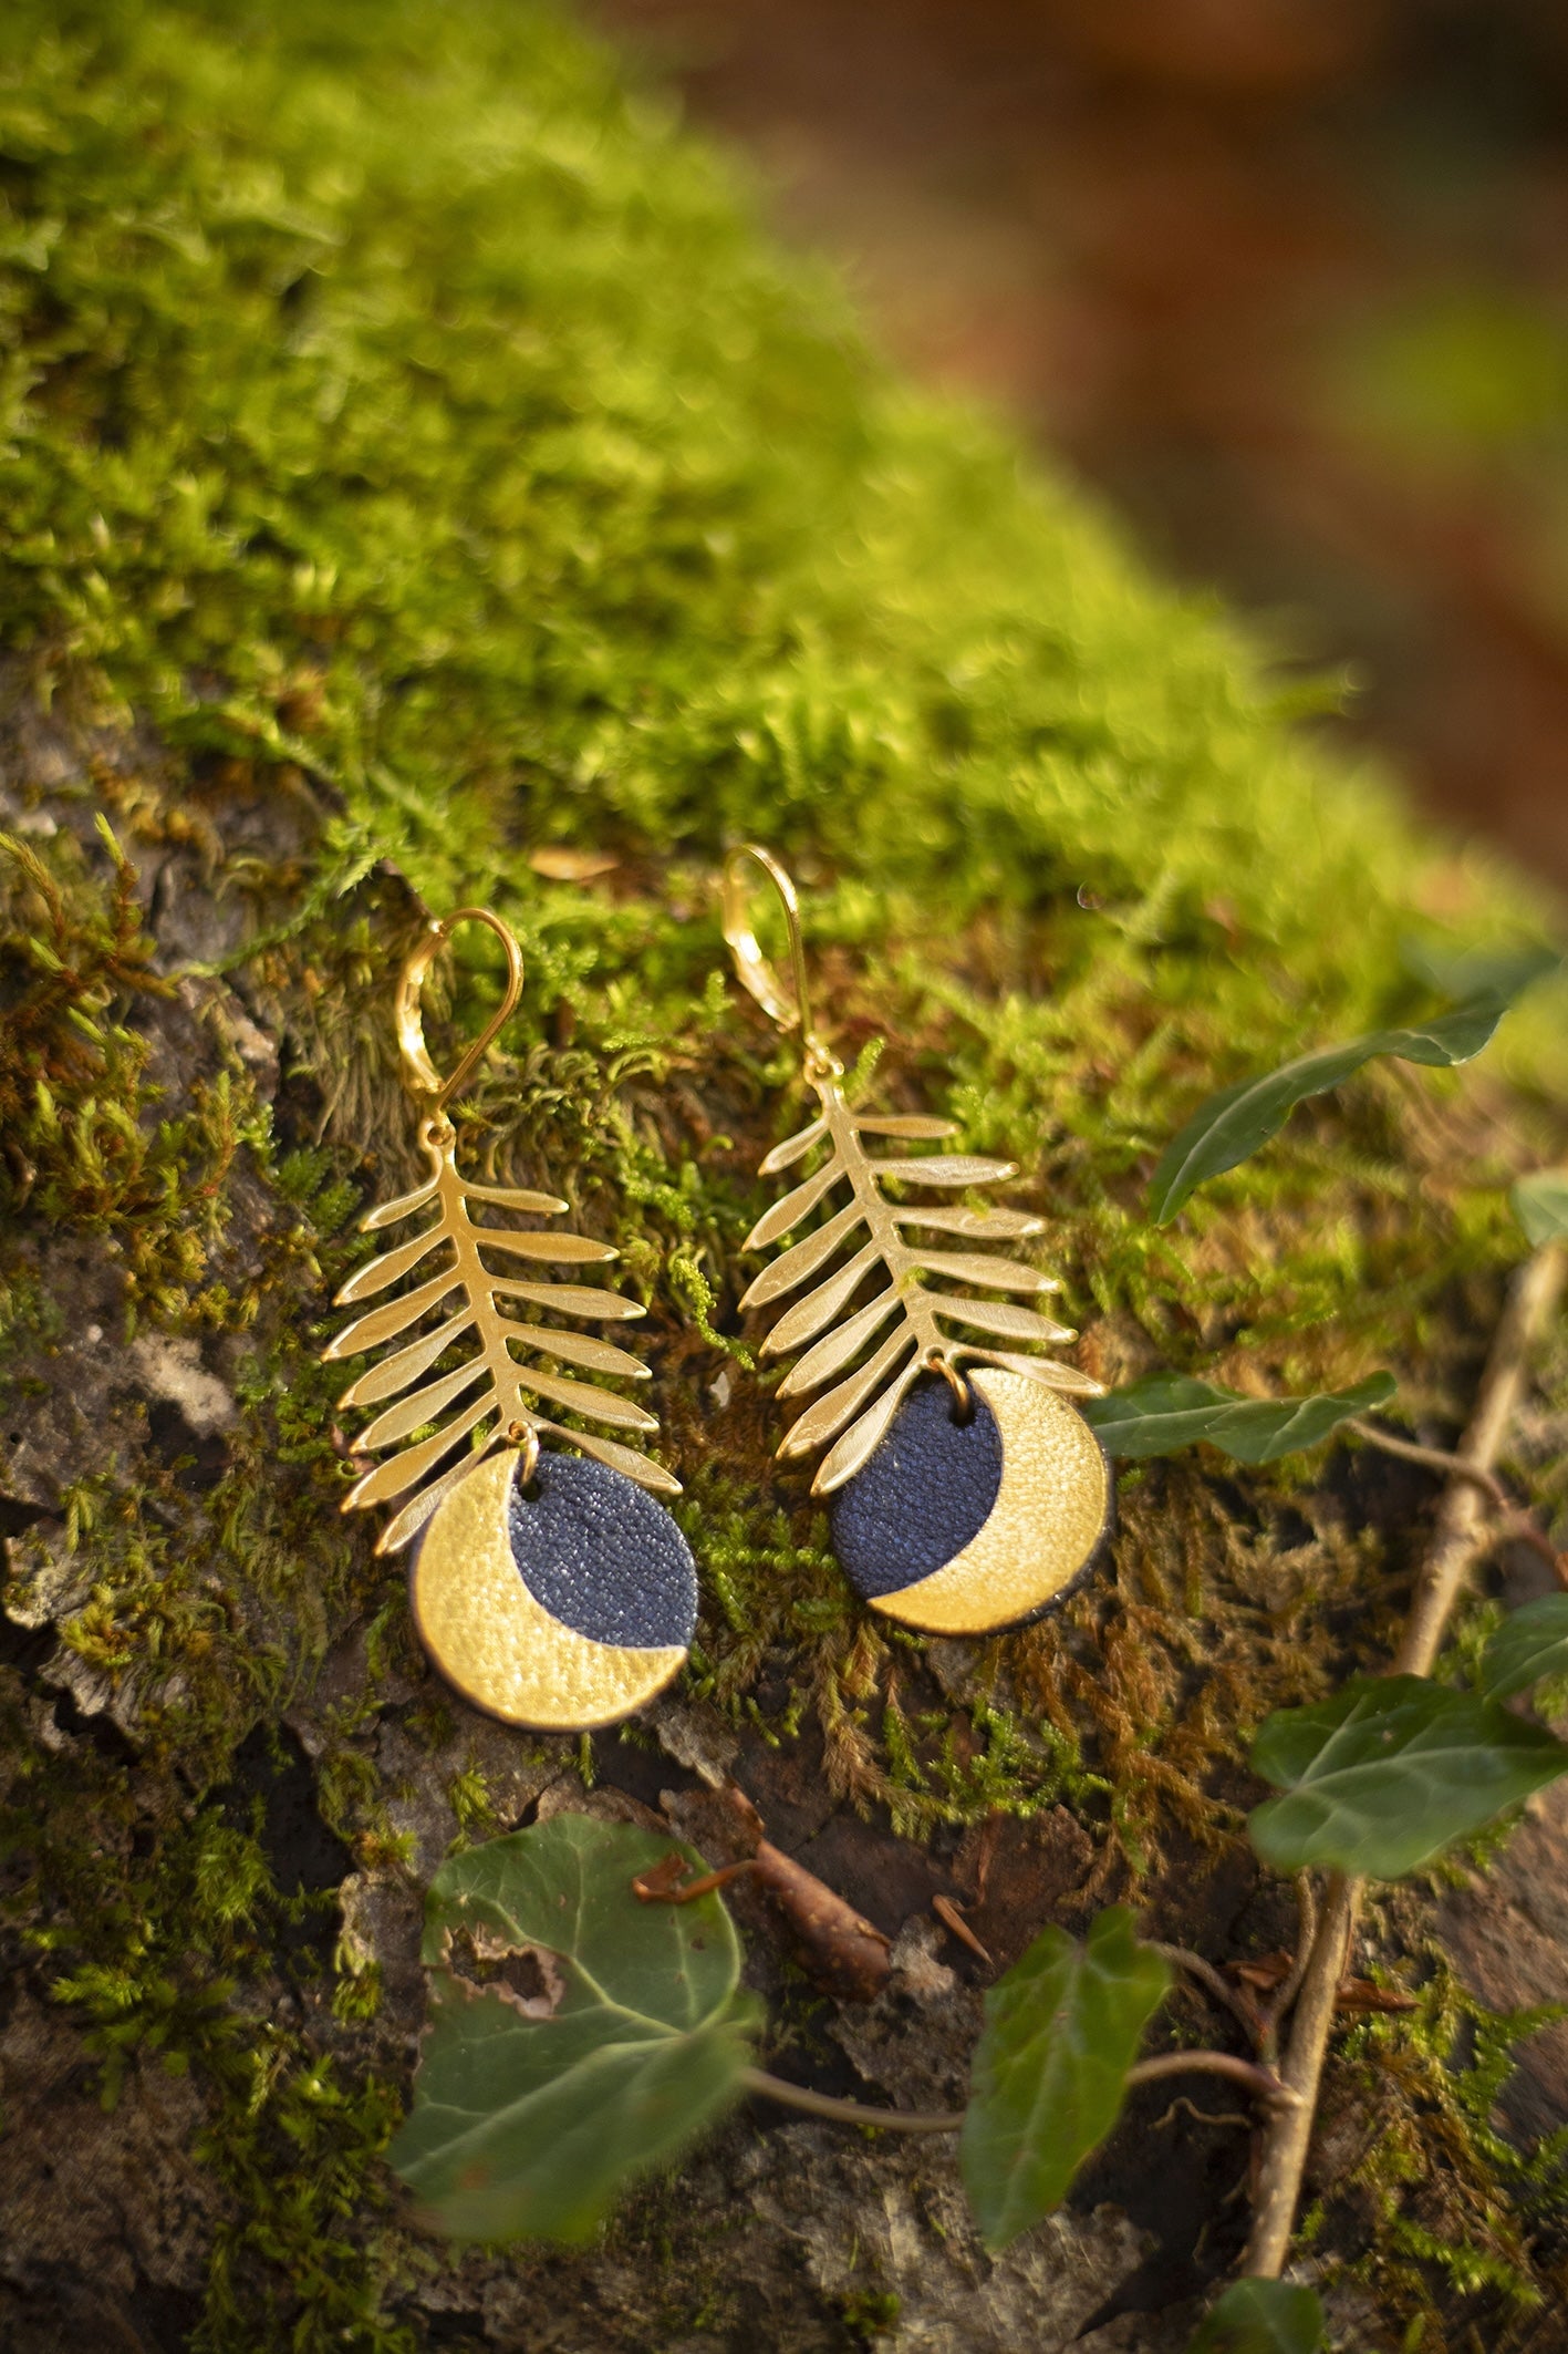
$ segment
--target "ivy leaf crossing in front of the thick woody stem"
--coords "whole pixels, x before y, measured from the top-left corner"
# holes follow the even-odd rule
[[[1568,1744],[1476,1693],[1354,1676],[1333,1700],[1267,1716],[1253,1768],[1286,1791],[1248,1817],[1265,1864],[1396,1881],[1568,1773]]]

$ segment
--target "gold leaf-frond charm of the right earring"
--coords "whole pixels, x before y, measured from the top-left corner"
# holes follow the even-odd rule
[[[762,1163],[762,1175],[771,1177],[792,1168],[818,1144],[827,1146],[827,1158],[804,1184],[773,1203],[748,1236],[745,1248],[762,1250],[783,1241],[844,1184],[851,1198],[835,1217],[773,1259],[741,1302],[741,1306],[755,1309],[785,1299],[802,1283],[811,1283],[825,1266],[832,1266],[832,1274],[778,1318],[762,1344],[764,1356],[783,1356],[790,1349],[806,1351],[785,1375],[778,1389],[780,1398],[804,1398],[832,1382],[832,1389],[825,1389],[806,1408],[778,1448],[785,1457],[811,1455],[832,1441],[811,1492],[832,1495],[835,1488],[856,1476],[884,1438],[910,1384],[933,1368],[1001,1365],[1044,1382],[1048,1389],[1098,1396],[1100,1384],[1072,1365],[959,1339],[947,1330],[947,1325],[957,1325],[1001,1342],[1074,1339],[1077,1335],[1067,1325],[1020,1306],[1018,1299],[973,1297],[976,1288],[1023,1295],[1060,1290],[1051,1276],[1018,1266],[990,1250],[931,1248],[929,1241],[907,1236],[907,1229],[924,1229],[924,1236],[952,1236],[959,1245],[1018,1243],[1041,1233],[1041,1219],[1020,1210],[964,1210],[943,1201],[896,1203],[884,1193],[889,1179],[898,1186],[947,1193],[959,1186],[1004,1184],[1018,1175],[1016,1165],[966,1153],[872,1158],[865,1137],[936,1142],[957,1130],[952,1121],[917,1113],[851,1111],[837,1069],[811,1073],[811,1085],[820,1102],[818,1118],[785,1144],[776,1144]],[[863,1241],[858,1241],[860,1236]],[[858,1248],[835,1266],[832,1262],[851,1241],[858,1241]],[[846,1314],[856,1292],[877,1271],[886,1274],[886,1285],[865,1306]],[[933,1288],[931,1278],[940,1288]],[[853,1372],[846,1372],[844,1368],[865,1349],[872,1354]]]

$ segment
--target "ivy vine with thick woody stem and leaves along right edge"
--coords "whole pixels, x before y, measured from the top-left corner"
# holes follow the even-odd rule
[[[1173,1137],[1154,1172],[1150,1212],[1159,1224],[1175,1217],[1208,1177],[1237,1168],[1267,1144],[1300,1102],[1338,1088],[1375,1057],[1392,1055],[1439,1069],[1469,1062],[1493,1038],[1514,998],[1547,972],[1561,970],[1561,956],[1544,946],[1446,963],[1425,956],[1410,963],[1450,998],[1450,1010],[1420,1029],[1368,1031],[1345,1045],[1300,1055],[1208,1097]],[[1281,2024],[1293,2013],[1281,2062],[1291,2102],[1274,2102],[1265,2121],[1246,2276],[1220,2300],[1197,2340],[1211,2354],[1293,2354],[1319,2342],[1316,2300],[1291,2305],[1298,2293],[1281,2290],[1279,2274],[1291,2248],[1363,1883],[1420,1871],[1453,1841],[1481,1831],[1568,1773],[1568,1744],[1547,1725],[1505,1707],[1568,1664],[1568,1596],[1530,1603],[1502,1627],[1483,1657],[1476,1690],[1439,1683],[1429,1674],[1479,1549],[1486,1511],[1502,1516],[1500,1525],[1514,1525],[1556,1565],[1552,1542],[1528,1514],[1512,1509],[1493,1467],[1519,1401],[1526,1354],[1563,1288],[1568,1172],[1523,1177],[1512,1201],[1535,1257],[1514,1281],[1469,1431],[1453,1455],[1361,1419],[1366,1408],[1387,1405],[1394,1396],[1387,1372],[1371,1375],[1354,1389],[1284,1401],[1239,1398],[1190,1375],[1157,1372],[1088,1408],[1105,1448],[1126,1459],[1204,1441],[1239,1462],[1262,1464],[1347,1429],[1448,1481],[1394,1674],[1356,1676],[1314,1707],[1276,1711],[1253,1742],[1253,1768],[1279,1796],[1253,1808],[1251,1841],[1265,1864],[1298,1876],[1302,1909],[1295,1968],[1258,2039],[1260,2057],[1272,2064]],[[1319,1869],[1328,1871],[1321,1907],[1312,1883]]]

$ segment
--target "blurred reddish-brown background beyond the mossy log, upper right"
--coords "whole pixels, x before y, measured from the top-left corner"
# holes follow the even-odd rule
[[[592,0],[1157,560],[1568,885],[1561,0]]]

